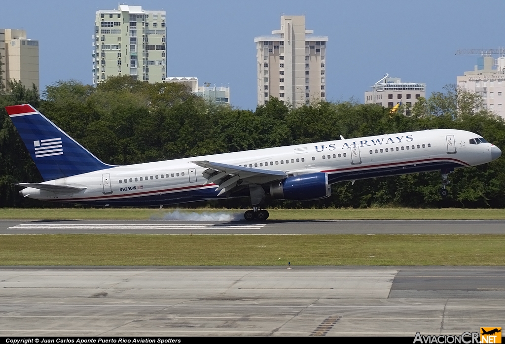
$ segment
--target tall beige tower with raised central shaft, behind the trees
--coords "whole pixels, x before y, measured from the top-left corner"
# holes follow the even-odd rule
[[[305,16],[281,16],[281,29],[255,37],[258,104],[277,97],[293,107],[326,99],[328,36],[306,30]]]

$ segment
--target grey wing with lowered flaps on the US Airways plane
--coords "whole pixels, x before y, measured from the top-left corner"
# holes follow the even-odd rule
[[[287,177],[286,172],[282,170],[252,168],[207,160],[191,162],[207,168],[203,173],[203,177],[207,179],[205,184],[218,185],[216,189],[216,191],[220,191],[218,196],[228,193],[238,186],[262,185]]]

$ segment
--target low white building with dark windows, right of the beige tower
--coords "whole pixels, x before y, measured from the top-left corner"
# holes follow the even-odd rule
[[[389,78],[388,74],[370,88],[370,91],[365,92],[365,104],[414,106],[419,97],[426,97],[426,84],[401,82],[400,78]]]

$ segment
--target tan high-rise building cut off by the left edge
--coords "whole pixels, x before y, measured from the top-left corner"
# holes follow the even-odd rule
[[[0,29],[0,54],[2,54],[2,82],[20,81],[27,88],[39,88],[38,41],[26,38],[25,30]]]

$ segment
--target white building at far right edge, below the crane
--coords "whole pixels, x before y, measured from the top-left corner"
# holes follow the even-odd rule
[[[473,71],[457,77],[457,85],[480,94],[486,108],[505,119],[505,57],[481,56]]]

